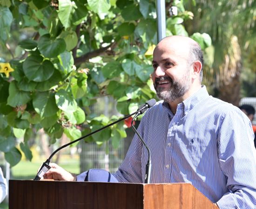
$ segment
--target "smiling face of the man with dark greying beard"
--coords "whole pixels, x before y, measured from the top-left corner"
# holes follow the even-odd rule
[[[159,44],[153,54],[152,79],[155,91],[157,97],[166,102],[173,102],[182,97],[191,85],[191,65],[187,56],[189,52],[181,51],[181,49],[175,50],[175,47]]]

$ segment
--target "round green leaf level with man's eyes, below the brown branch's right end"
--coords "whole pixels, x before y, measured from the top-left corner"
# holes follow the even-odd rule
[[[118,77],[120,76],[121,72],[122,72],[121,64],[117,61],[108,62],[108,64],[102,68],[102,73],[105,78]]]

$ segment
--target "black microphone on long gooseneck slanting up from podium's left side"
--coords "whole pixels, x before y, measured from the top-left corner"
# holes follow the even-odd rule
[[[70,144],[73,144],[73,143],[75,143],[75,142],[78,142],[78,141],[80,141],[81,139],[84,139],[84,138],[86,138],[86,137],[89,137],[89,136],[93,135],[94,133],[97,133],[97,132],[99,132],[99,131],[101,131],[101,130],[103,130],[103,129],[106,129],[106,128],[108,128],[108,127],[111,126],[111,125],[117,124],[117,123],[119,123],[120,121],[125,120],[126,118],[129,118],[129,117],[131,117],[131,116],[133,116],[133,115],[135,115],[135,114],[138,114],[138,116],[141,115],[141,114],[142,114],[143,112],[145,112],[148,108],[154,106],[154,104],[155,104],[154,101],[155,101],[155,99],[150,99],[150,100],[148,100],[145,104],[141,105],[141,106],[138,108],[138,110],[135,111],[134,113],[132,113],[132,114],[130,114],[130,115],[127,115],[127,116],[125,116],[125,117],[123,117],[123,118],[121,118],[121,119],[119,119],[119,120],[117,120],[117,121],[115,121],[115,122],[113,122],[113,123],[111,123],[111,124],[108,124],[108,125],[106,125],[106,126],[103,126],[103,127],[100,128],[100,129],[97,129],[97,130],[95,130],[95,131],[93,131],[93,132],[91,132],[91,133],[89,133],[89,134],[87,134],[87,135],[85,135],[85,136],[82,136],[82,137],[80,137],[80,138],[78,138],[78,139],[76,139],[76,140],[74,140],[74,141],[72,141],[72,142],[69,142],[69,143],[64,144],[63,146],[59,147],[59,148],[58,148],[57,150],[55,150],[55,151],[51,154],[51,156],[42,164],[42,166],[41,166],[40,170],[38,171],[37,175],[34,177],[34,181],[40,180],[41,177],[42,177],[48,170],[50,170],[51,166],[49,165],[49,163],[51,162],[51,158],[55,155],[56,152],[58,152],[59,150],[65,148],[65,147],[67,147],[67,146],[69,146]],[[152,104],[153,104],[153,105],[152,105]]]

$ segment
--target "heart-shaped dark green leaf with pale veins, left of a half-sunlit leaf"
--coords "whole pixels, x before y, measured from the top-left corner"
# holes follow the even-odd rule
[[[34,110],[41,118],[55,115],[58,111],[53,93],[38,92],[33,99]]]

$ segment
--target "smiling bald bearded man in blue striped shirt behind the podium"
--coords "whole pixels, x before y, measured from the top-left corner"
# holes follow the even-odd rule
[[[256,207],[256,150],[246,115],[209,96],[202,83],[202,50],[193,39],[169,36],[155,47],[152,79],[158,98],[138,128],[152,155],[151,183],[191,183],[220,209]],[[112,175],[143,183],[148,152],[135,135]],[[74,181],[54,163],[44,178]]]

